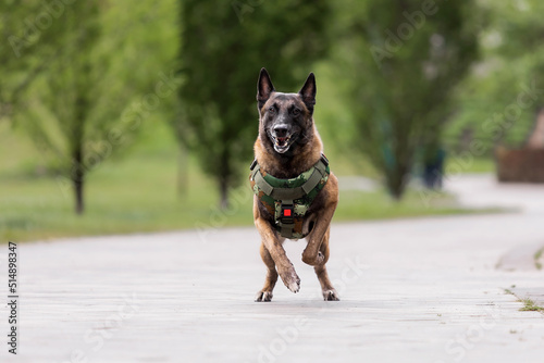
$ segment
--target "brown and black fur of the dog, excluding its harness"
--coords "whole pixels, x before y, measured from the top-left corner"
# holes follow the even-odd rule
[[[255,158],[261,171],[277,178],[293,178],[312,167],[321,158],[323,145],[313,123],[316,77],[310,73],[298,93],[274,90],[267,70],[259,75],[257,101],[259,136],[255,142]],[[330,174],[307,214],[302,228],[308,245],[302,261],[313,266],[321,284],[324,300],[339,300],[329,280],[325,263],[329,260],[330,224],[338,203],[338,180]],[[283,238],[274,229],[274,215],[254,197],[254,220],[261,235],[261,258],[268,267],[264,287],[256,301],[271,301],[277,276],[293,292],[300,288],[300,278],[283,249]]]

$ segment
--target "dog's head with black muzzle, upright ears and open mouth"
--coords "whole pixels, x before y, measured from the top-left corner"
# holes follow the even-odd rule
[[[274,90],[267,70],[262,68],[257,85],[260,137],[267,149],[292,154],[311,139],[316,77],[310,73],[298,93]]]

